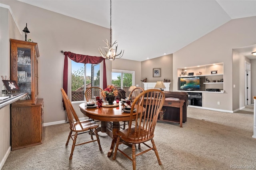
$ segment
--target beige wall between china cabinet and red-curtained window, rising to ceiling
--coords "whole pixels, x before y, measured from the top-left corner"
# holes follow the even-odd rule
[[[64,55],[60,51],[100,56],[98,47],[104,46],[102,40],[109,38],[109,29],[19,1],[1,3],[10,5],[22,29],[28,23],[27,38],[38,43],[38,96],[44,99],[44,123],[65,120],[60,92]],[[111,65],[108,69],[111,71]]]

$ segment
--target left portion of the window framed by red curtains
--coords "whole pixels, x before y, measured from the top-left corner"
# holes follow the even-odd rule
[[[91,87],[92,64],[71,61],[71,93],[72,101],[84,101],[86,87]]]

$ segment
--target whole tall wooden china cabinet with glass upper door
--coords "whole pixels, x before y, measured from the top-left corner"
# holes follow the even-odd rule
[[[38,99],[38,45],[10,39],[11,80],[28,95],[11,105],[12,150],[42,143],[43,99]]]

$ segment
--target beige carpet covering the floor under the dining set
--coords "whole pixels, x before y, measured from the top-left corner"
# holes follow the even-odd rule
[[[111,138],[102,132],[99,132],[101,152],[96,142],[76,146],[73,159],[69,160],[72,144],[65,146],[68,126],[44,127],[43,144],[12,151],[2,170],[132,170],[132,162],[120,152],[116,160],[107,157]],[[158,165],[154,151],[150,151],[136,158],[136,167],[138,170],[256,168],[256,139],[252,134],[252,114],[189,107],[183,128],[177,123],[157,123],[154,140],[162,166]],[[130,152],[131,148],[124,147]]]

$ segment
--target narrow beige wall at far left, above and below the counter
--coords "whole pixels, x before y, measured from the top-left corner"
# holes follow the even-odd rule
[[[9,30],[12,30],[9,32]],[[9,6],[0,7],[0,75],[10,77],[10,38],[21,38]],[[0,87],[3,82],[0,81]],[[10,105],[0,110],[0,169],[10,153]]]

